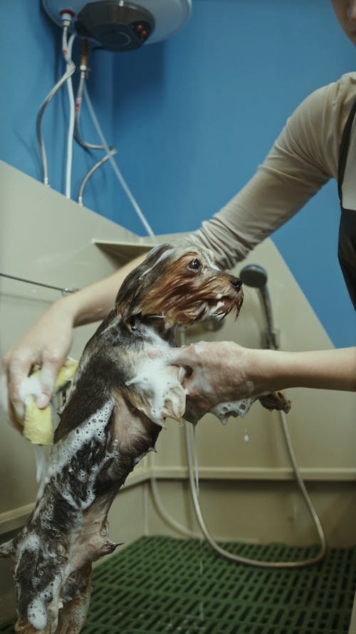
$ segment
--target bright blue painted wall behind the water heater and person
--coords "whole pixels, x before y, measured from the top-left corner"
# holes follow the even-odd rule
[[[60,73],[59,29],[39,3],[6,6],[1,158],[41,178],[35,121]],[[172,39],[130,53],[95,51],[88,88],[152,228],[185,231],[251,178],[302,99],[354,70],[355,61],[325,0],[193,0],[192,19]],[[85,111],[82,122],[83,136],[95,141]],[[43,120],[51,185],[61,191],[66,123],[63,91]],[[89,165],[75,148],[73,191]],[[85,205],[145,234],[110,165],[89,183]],[[272,239],[331,339],[343,346],[355,344],[356,322],[337,264],[339,217],[333,182]]]

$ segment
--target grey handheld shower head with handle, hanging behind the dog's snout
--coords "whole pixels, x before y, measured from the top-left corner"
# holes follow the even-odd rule
[[[277,332],[273,327],[273,315],[271,297],[268,292],[266,269],[258,264],[249,264],[241,269],[239,277],[242,283],[258,290],[263,307],[263,315],[266,319],[266,332],[263,335],[263,344],[267,348],[278,348]]]

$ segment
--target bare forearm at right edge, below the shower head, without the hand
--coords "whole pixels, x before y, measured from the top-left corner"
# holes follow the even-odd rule
[[[251,350],[253,392],[288,387],[356,391],[356,348],[281,352]]]

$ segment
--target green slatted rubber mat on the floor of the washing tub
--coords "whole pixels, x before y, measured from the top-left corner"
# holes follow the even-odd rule
[[[281,544],[224,546],[266,561],[315,555]],[[347,634],[355,586],[356,548],[273,570],[226,561],[199,540],[142,537],[94,569],[83,634]]]

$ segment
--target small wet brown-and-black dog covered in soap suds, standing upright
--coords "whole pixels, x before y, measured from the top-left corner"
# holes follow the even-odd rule
[[[78,634],[92,562],[112,552],[108,511],[167,416],[186,407],[184,370],[152,356],[178,324],[239,310],[241,280],[208,251],[156,247],[127,276],[115,308],[85,347],[26,526],[0,552],[14,558],[22,634]]]

